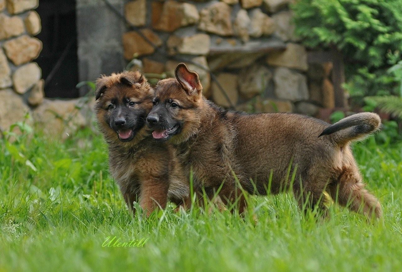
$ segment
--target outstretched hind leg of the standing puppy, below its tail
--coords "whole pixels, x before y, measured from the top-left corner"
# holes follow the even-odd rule
[[[375,196],[365,188],[357,167],[344,167],[338,180],[328,187],[332,199],[356,213],[363,213],[367,218],[382,216],[381,205]]]

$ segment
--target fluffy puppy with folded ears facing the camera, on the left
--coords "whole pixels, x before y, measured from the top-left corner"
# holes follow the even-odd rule
[[[96,82],[94,110],[109,145],[110,172],[129,209],[136,201],[147,215],[164,209],[167,199],[183,205],[189,196],[174,150],[156,143],[145,125],[153,95],[138,71],[101,76]]]

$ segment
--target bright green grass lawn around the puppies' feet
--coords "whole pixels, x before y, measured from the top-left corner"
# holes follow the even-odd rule
[[[89,130],[65,142],[0,141],[0,272],[401,270],[402,144],[371,138],[354,150],[383,221],[330,205],[331,219],[316,222],[282,194],[252,198],[255,225],[228,212],[173,207],[133,219],[108,174],[105,143]],[[103,247],[109,236],[149,239]]]

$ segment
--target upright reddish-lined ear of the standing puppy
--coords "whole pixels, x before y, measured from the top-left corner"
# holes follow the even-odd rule
[[[177,65],[174,75],[187,94],[191,95],[194,92],[200,94],[202,92],[202,85],[198,74],[190,71],[184,63]]]

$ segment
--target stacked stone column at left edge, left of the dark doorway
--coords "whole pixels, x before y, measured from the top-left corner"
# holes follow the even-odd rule
[[[29,107],[43,101],[41,69],[35,62],[42,42],[32,37],[41,20],[32,9],[38,0],[0,0],[0,127],[21,121]],[[18,110],[14,110],[17,108]]]

